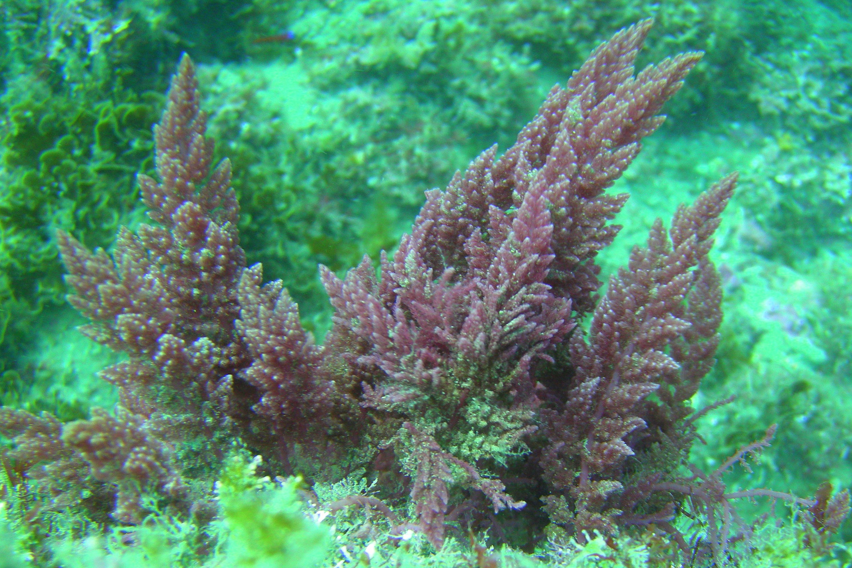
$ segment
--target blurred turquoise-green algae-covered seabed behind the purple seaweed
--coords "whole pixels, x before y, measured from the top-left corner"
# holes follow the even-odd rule
[[[844,0],[3,0],[0,389],[3,404],[86,416],[111,353],[73,330],[54,233],[109,249],[142,221],[135,175],[181,52],[199,63],[217,152],[234,165],[242,246],[317,336],[319,262],[391,250],[423,191],[514,141],[597,43],[653,16],[640,63],[706,51],[669,121],[613,191],[631,194],[602,256],[625,261],[740,170],[715,251],[719,361],[696,404],[712,468],[779,423],[733,485],[852,485],[852,8]],[[847,540],[852,534],[844,535]]]

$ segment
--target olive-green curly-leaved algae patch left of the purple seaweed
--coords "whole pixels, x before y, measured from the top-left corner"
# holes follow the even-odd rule
[[[79,100],[32,93],[8,107],[0,192],[0,358],[20,357],[36,315],[65,304],[55,231],[93,246],[134,225],[135,175],[152,167],[158,97]]]

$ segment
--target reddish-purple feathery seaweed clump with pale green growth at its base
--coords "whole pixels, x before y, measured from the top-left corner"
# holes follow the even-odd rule
[[[723,479],[775,427],[716,468],[689,462],[696,421],[726,402],[690,401],[719,341],[709,253],[737,176],[679,207],[668,229],[655,221],[598,294],[596,256],[628,197],[606,190],[701,57],[634,75],[650,27],[602,43],[502,156],[492,146],[427,192],[378,269],[368,256],[344,278],[320,267],[334,308],[323,345],[283,284],[247,266],[231,165],[214,165],[184,56],[154,129],[157,177],[138,176],[153,224],[120,229],[112,255],[58,233],[69,300],[92,322],[83,333],[127,358],[101,373],[118,389],[112,413],[63,424],[0,410],[14,442],[7,502],[26,532],[14,546],[60,565],[75,546],[93,562],[112,550],[319,565],[336,555],[323,521],[345,529],[355,508],[368,518],[338,535],[343,563],[428,564],[466,530],[479,565],[533,562],[493,555],[485,535],[575,565],[604,546],[610,562],[722,565],[759,558],[767,537],[734,502],[765,497],[799,508],[790,554],[827,554],[846,491],[826,483],[805,499]],[[246,465],[245,450],[263,458]],[[360,489],[328,501],[324,485]],[[69,514],[81,525],[62,526]],[[112,527],[106,548],[72,542],[96,524]],[[157,539],[166,552],[149,547]],[[440,552],[423,556],[427,546]]]

